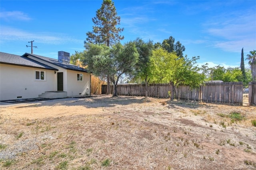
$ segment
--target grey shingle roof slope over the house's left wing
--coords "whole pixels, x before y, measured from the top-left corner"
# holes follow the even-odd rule
[[[58,69],[56,68],[53,68],[46,64],[42,64],[38,61],[34,61],[32,59],[29,59],[28,57],[23,57],[23,56],[13,55],[13,54],[3,53],[3,52],[0,52],[0,63],[58,71]]]

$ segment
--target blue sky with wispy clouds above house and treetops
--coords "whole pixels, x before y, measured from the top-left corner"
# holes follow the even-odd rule
[[[240,66],[256,49],[256,0],[114,0],[122,43],[136,37],[153,43],[180,41],[188,57],[200,56],[199,64]],[[0,51],[58,58],[58,51],[84,50],[86,32],[102,0],[0,0]],[[245,61],[248,66],[248,61]]]

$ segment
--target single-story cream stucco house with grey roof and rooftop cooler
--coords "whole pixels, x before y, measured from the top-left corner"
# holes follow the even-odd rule
[[[0,101],[90,96],[91,73],[69,61],[64,51],[58,59],[0,52]]]

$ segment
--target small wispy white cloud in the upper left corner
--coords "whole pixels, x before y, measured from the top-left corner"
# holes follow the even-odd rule
[[[3,20],[22,20],[22,21],[28,21],[31,20],[27,14],[24,14],[21,11],[5,11],[0,12],[0,18]]]

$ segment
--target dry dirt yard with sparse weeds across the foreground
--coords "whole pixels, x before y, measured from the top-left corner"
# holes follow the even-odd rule
[[[0,169],[256,169],[255,106],[97,96],[0,106]]]

